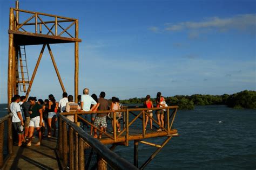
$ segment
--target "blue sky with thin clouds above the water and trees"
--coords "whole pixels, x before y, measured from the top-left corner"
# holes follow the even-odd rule
[[[20,8],[79,19],[79,94],[121,99],[256,90],[256,1],[25,1]],[[0,1],[0,103],[7,100],[9,8]],[[26,46],[30,77],[42,45]],[[74,44],[51,45],[74,94]],[[22,94],[22,93],[21,93]],[[31,96],[62,95],[48,51]]]

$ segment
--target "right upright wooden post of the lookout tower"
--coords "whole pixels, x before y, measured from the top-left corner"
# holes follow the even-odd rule
[[[78,38],[78,20],[76,20],[75,38]],[[75,102],[77,103],[78,96],[78,70],[79,70],[79,58],[78,58],[78,42],[75,42]]]

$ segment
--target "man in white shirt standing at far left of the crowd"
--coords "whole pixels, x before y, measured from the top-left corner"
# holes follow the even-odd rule
[[[10,105],[10,110],[12,112],[12,125],[14,125],[15,131],[18,133],[18,146],[22,145],[22,142],[25,142],[25,138],[23,132],[19,132],[18,128],[20,125],[24,126],[21,106],[18,104],[21,101],[21,97],[19,95],[14,95],[14,102]]]

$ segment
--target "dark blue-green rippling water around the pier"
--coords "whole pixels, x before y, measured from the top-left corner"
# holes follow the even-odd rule
[[[6,114],[0,104],[0,116]],[[173,137],[145,169],[256,169],[256,110],[225,105],[178,110]],[[161,144],[163,138],[147,141]],[[139,143],[139,166],[156,147]],[[133,142],[114,150],[133,163]]]

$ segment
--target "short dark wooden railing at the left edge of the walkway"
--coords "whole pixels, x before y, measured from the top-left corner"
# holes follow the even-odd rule
[[[10,158],[10,154],[12,154],[12,116],[10,114],[2,117],[0,119],[0,169],[3,168],[4,164]],[[6,126],[5,126],[6,125]],[[8,131],[6,132],[5,129]],[[6,133],[7,139],[4,138],[4,134]],[[4,141],[7,141],[8,148],[6,156],[4,157]],[[6,144],[5,144],[6,145]]]

